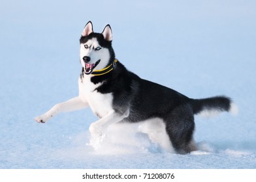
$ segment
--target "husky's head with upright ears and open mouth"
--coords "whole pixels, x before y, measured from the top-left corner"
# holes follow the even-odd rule
[[[110,25],[106,25],[102,33],[95,33],[91,21],[86,24],[80,38],[80,62],[86,75],[91,74],[93,70],[102,70],[114,61],[111,43]]]

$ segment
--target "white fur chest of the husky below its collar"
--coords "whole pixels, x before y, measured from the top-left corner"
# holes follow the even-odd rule
[[[97,86],[99,85],[94,85],[91,82],[84,81],[83,83],[80,83],[81,85],[79,86],[79,92],[80,92],[80,97],[82,99],[85,99],[89,107],[91,107],[91,110],[95,115],[97,115],[99,118],[102,118],[108,112],[110,112],[112,109],[112,101],[113,101],[113,96],[112,94],[101,94],[95,90]]]

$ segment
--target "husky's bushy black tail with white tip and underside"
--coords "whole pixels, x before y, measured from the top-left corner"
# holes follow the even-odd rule
[[[219,112],[231,112],[232,114],[238,113],[238,107],[226,96],[216,96],[206,99],[191,99],[194,114],[202,116],[214,116]]]

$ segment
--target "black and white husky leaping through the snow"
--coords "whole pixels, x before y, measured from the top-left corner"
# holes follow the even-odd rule
[[[177,153],[189,153],[197,149],[193,141],[194,114],[236,109],[225,96],[191,99],[129,72],[115,57],[110,25],[102,33],[95,33],[91,21],[86,24],[80,38],[80,63],[79,95],[58,103],[36,117],[36,122],[44,123],[59,112],[89,106],[99,117],[89,127],[94,137],[103,137],[104,130],[113,123],[143,122],[142,131],[150,131],[153,142],[167,150],[172,146]]]

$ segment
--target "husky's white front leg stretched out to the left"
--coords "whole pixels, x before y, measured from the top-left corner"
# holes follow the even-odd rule
[[[63,103],[58,103],[52,107],[52,109],[48,110],[46,113],[41,116],[37,116],[35,121],[38,123],[45,123],[50,118],[59,114],[59,112],[70,112],[73,110],[83,109],[84,107],[88,107],[88,103],[83,101],[80,97],[69,99]]]

